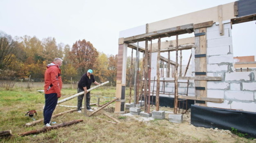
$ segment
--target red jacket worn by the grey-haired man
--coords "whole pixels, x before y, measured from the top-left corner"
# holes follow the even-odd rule
[[[45,71],[45,94],[57,93],[61,95],[61,69],[54,62],[48,64]]]

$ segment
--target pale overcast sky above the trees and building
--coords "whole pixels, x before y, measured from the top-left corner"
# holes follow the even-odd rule
[[[114,55],[118,53],[120,31],[234,1],[0,0],[0,31],[13,37],[54,37],[57,44],[70,47],[85,39],[98,51]],[[250,30],[254,34],[255,25],[254,21],[255,30]],[[255,43],[255,37],[252,35],[250,41]],[[256,55],[255,51],[252,55]]]

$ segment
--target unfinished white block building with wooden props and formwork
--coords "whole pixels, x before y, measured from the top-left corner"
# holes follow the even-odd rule
[[[178,104],[181,101],[187,104],[190,100],[193,101],[191,124],[227,130],[233,127],[255,137],[256,71],[249,71],[248,67],[254,67],[256,62],[234,62],[231,34],[233,24],[256,20],[255,7],[255,0],[238,0],[121,31],[116,85],[116,97],[120,100],[116,101],[115,112],[125,112],[127,48],[133,48],[137,59],[139,52],[145,59],[141,91],[145,101],[144,113],[155,118],[163,117],[159,102],[161,104],[161,98],[165,101],[169,98],[173,99],[169,103],[177,114]],[[179,39],[179,35],[186,33],[194,36]],[[176,40],[161,41],[172,36]],[[152,40],[158,42],[152,43]],[[145,46],[140,47],[139,42],[145,42]],[[182,51],[187,49],[191,49],[191,65],[188,62],[182,68]],[[163,52],[168,53],[168,57],[161,56]],[[176,61],[170,60],[170,52],[176,52]],[[165,70],[160,69],[160,62],[166,63]],[[247,70],[242,70],[243,66]],[[190,74],[186,74],[188,69]],[[136,88],[138,86],[134,84],[135,104],[138,103]],[[155,115],[149,110],[152,97],[156,104]],[[134,109],[130,111],[138,111]]]

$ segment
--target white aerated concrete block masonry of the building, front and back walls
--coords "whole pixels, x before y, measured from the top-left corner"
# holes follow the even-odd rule
[[[233,45],[230,21],[223,22],[224,35],[220,35],[219,25],[207,27],[207,76],[222,77],[222,81],[207,81],[207,97],[222,98],[223,103],[206,102],[208,107],[236,109],[248,112],[256,112],[256,71],[236,72],[233,68]],[[240,47],[242,48],[242,47]],[[195,50],[192,49],[193,56]],[[157,53],[152,53],[151,79],[156,76]],[[195,71],[195,60],[192,58],[192,75]],[[156,78],[157,79],[157,78]],[[174,78],[160,78],[160,80],[174,80]],[[178,80],[184,81],[186,80]],[[195,84],[190,80],[188,96],[195,96]],[[165,92],[174,93],[174,83],[165,84]],[[160,91],[163,84],[160,82]],[[153,90],[153,82],[151,82]],[[178,85],[179,94],[186,94],[186,84]],[[154,86],[156,91],[156,82]],[[161,95],[174,97],[173,95]]]

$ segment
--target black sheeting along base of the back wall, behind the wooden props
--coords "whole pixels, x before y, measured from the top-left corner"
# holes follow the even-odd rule
[[[186,101],[180,101],[180,109],[186,109]],[[182,103],[184,102],[184,105]],[[188,109],[191,107],[191,104],[194,104],[195,100],[188,100]],[[152,104],[152,96],[150,96],[150,104]],[[153,104],[156,105],[156,96],[153,96]],[[174,98],[172,97],[159,97],[159,106],[161,107],[174,107]]]

